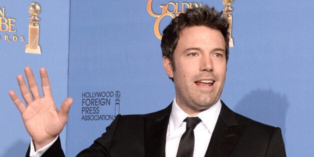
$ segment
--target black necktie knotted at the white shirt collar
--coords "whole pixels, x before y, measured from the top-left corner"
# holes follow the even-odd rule
[[[198,117],[187,117],[184,121],[186,121],[186,130],[181,136],[176,156],[192,157],[194,151],[194,128],[201,120]]]

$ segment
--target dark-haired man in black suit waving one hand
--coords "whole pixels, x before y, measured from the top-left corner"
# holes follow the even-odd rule
[[[227,28],[222,14],[208,6],[172,19],[163,30],[161,49],[164,70],[174,82],[174,100],[157,112],[117,115],[77,156],[285,156],[280,128],[239,115],[219,99],[226,78]],[[29,67],[25,74],[31,94],[21,75],[17,80],[27,107],[13,91],[9,95],[32,137],[26,156],[64,156],[58,133],[72,99],[65,99],[58,111],[45,69],[40,69],[43,97]],[[189,126],[188,119],[198,120]],[[189,127],[193,133],[186,142]]]

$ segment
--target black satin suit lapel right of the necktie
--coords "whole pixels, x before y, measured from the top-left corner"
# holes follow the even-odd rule
[[[234,112],[221,101],[221,110],[205,156],[229,156],[245,125],[239,125]]]

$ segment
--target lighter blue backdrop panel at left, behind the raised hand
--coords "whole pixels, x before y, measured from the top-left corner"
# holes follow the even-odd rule
[[[24,156],[30,142],[20,113],[8,96],[13,89],[19,94],[16,81],[17,74],[24,74],[23,68],[30,66],[40,84],[39,68],[46,67],[50,76],[52,94],[57,107],[67,96],[68,71],[68,32],[69,32],[69,0],[37,0],[41,13],[39,21],[39,45],[41,54],[25,53],[28,43],[28,7],[33,0],[2,0],[0,2],[0,156]],[[3,11],[4,10],[4,11]],[[6,30],[8,18],[11,19],[12,30]],[[5,20],[6,19],[6,20]],[[5,37],[7,36],[7,37]],[[16,36],[16,41],[14,41]],[[23,38],[23,39],[22,39]],[[21,97],[21,96],[20,96]],[[60,134],[64,139],[66,128]]]

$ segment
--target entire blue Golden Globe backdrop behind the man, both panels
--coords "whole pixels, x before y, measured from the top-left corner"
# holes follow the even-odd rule
[[[18,91],[15,77],[26,65],[32,67],[37,82],[39,67],[47,68],[58,107],[66,96],[74,99],[60,134],[66,156],[89,146],[115,114],[152,112],[171,102],[174,87],[163,71],[160,40],[154,33],[158,18],[147,9],[160,15],[163,5],[168,5],[168,11],[179,12],[186,1],[152,0],[148,8],[147,1],[37,0],[42,8],[42,54],[24,53],[31,1],[0,3],[6,18],[15,19],[16,29],[0,31],[0,156],[22,156],[29,144],[20,114],[7,94],[9,89]],[[224,7],[221,0],[196,3]],[[312,4],[310,0],[235,0],[231,5],[234,47],[229,49],[221,99],[236,112],[279,126],[287,156],[314,153]],[[161,18],[160,30],[170,18]],[[9,42],[4,35],[19,40]]]

